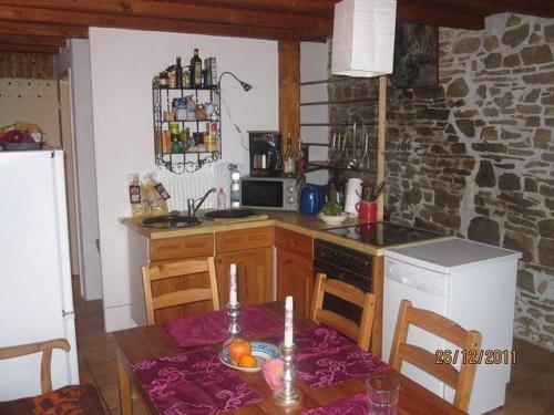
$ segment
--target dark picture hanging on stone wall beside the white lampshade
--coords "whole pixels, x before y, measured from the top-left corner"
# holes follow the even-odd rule
[[[397,23],[392,83],[402,90],[439,84],[439,28]]]

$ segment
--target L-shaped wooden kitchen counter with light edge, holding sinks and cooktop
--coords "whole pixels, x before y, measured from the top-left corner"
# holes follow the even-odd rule
[[[138,234],[143,235],[150,239],[164,239],[164,238],[175,238],[191,235],[201,235],[201,234],[215,234],[218,231],[225,230],[238,230],[238,229],[252,229],[259,228],[266,226],[276,226],[285,229],[289,229],[293,231],[301,232],[311,238],[322,239],[332,243],[337,243],[347,248],[356,249],[366,253],[370,253],[372,256],[383,256],[384,250],[388,248],[400,248],[400,247],[410,247],[429,242],[437,242],[439,240],[451,239],[451,237],[439,237],[435,239],[424,240],[424,241],[416,241],[411,243],[398,243],[391,245],[387,247],[379,247],[367,242],[356,241],[352,239],[347,239],[345,237],[340,237],[337,235],[332,235],[326,232],[325,229],[337,228],[349,225],[358,225],[358,218],[349,218],[340,226],[330,226],[321,220],[319,220],[316,216],[311,215],[301,215],[294,211],[258,211],[259,215],[252,218],[245,219],[230,219],[230,220],[204,220],[201,225],[189,227],[189,228],[178,228],[178,229],[153,229],[145,228],[138,224],[137,220],[133,218],[123,218],[120,221],[134,229]],[[202,216],[202,211],[201,211]]]

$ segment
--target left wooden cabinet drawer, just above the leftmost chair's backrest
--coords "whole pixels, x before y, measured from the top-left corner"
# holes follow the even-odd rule
[[[154,239],[150,241],[150,260],[184,259],[211,257],[214,255],[212,234],[191,235],[188,237]]]

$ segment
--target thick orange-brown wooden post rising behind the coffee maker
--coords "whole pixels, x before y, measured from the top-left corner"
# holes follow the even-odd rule
[[[300,137],[300,42],[279,42],[279,132],[281,151],[293,137],[293,153]]]

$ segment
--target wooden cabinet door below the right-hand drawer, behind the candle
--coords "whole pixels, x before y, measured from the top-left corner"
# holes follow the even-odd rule
[[[229,301],[229,268],[232,263],[237,264],[237,289],[240,304],[260,304],[273,300],[271,248],[224,252],[215,257],[217,288],[222,308],[225,308]]]

